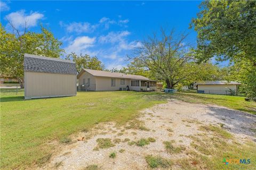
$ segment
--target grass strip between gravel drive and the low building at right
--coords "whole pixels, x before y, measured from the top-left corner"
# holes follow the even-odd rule
[[[256,114],[256,102],[245,101],[245,97],[227,95],[193,94],[188,92],[177,92],[174,98],[190,103],[215,104],[225,106],[237,111]]]

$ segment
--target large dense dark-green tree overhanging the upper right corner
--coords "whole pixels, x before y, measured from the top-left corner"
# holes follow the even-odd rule
[[[205,1],[191,27],[197,31],[199,61],[217,57],[233,63],[233,80],[256,98],[256,1]]]

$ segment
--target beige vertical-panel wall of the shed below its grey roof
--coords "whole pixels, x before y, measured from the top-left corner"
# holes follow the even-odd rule
[[[75,74],[25,72],[25,99],[75,95]]]

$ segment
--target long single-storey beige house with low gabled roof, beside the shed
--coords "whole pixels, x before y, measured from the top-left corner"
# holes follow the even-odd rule
[[[77,79],[78,89],[86,91],[156,90],[156,81],[141,75],[83,69]]]

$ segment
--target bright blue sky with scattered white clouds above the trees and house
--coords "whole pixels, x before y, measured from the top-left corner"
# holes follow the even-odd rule
[[[107,69],[126,66],[127,55],[140,41],[161,27],[189,33],[185,43],[196,45],[189,29],[199,12],[200,1],[1,1],[1,23],[7,20],[22,30],[39,32],[40,24],[62,41],[66,54],[97,56]],[[66,55],[65,54],[65,55]],[[62,58],[65,57],[61,56]]]

